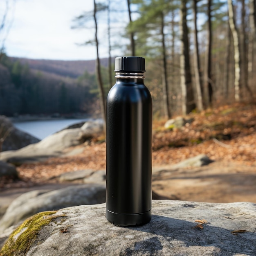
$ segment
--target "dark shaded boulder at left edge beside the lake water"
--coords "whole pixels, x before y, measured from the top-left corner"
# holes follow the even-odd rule
[[[5,116],[0,116],[0,137],[6,137],[2,144],[2,151],[17,150],[40,141],[40,139],[15,128]]]

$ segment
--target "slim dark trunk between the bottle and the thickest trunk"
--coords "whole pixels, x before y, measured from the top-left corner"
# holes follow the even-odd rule
[[[166,47],[165,47],[165,35],[164,35],[164,13],[161,12],[161,35],[162,35],[162,57],[163,57],[163,92],[164,101],[166,102],[166,115],[171,118],[171,110],[169,103],[169,89],[167,79],[167,61],[166,61]]]

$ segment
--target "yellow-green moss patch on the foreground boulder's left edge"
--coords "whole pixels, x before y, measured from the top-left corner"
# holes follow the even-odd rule
[[[42,227],[61,216],[54,216],[57,211],[43,211],[25,220],[2,247],[0,256],[26,255],[36,240]]]

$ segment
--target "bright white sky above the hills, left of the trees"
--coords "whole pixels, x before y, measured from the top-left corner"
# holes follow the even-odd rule
[[[5,2],[0,0],[0,20]],[[5,52],[12,57],[95,59],[95,46],[77,45],[93,39],[94,29],[71,29],[74,17],[92,9],[92,0],[9,0],[6,29],[0,31],[0,43],[7,38]],[[107,56],[107,47],[101,47],[100,57]]]

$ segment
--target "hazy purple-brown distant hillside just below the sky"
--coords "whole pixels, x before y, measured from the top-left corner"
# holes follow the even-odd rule
[[[83,74],[85,70],[89,73],[95,72],[95,60],[90,61],[55,61],[44,59],[29,59],[10,57],[13,61],[20,61],[22,64],[28,64],[31,70],[52,73],[59,76],[69,76],[76,78]],[[101,65],[108,67],[108,58],[101,59]]]

